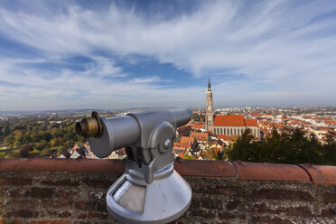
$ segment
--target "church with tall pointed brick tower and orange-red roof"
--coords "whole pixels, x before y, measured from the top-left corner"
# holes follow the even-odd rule
[[[215,135],[240,136],[249,128],[252,135],[260,137],[260,129],[256,119],[245,119],[241,115],[218,115],[214,117],[213,99],[210,79],[206,91],[205,128]]]

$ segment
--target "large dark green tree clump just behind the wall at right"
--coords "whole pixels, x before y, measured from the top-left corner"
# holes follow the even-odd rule
[[[255,141],[251,131],[247,129],[232,146],[229,160],[322,164],[327,156],[324,151],[314,135],[307,136],[299,128],[285,128],[281,133],[273,130],[271,135],[260,141]]]

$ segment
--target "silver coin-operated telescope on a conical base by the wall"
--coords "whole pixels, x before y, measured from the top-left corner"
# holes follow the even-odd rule
[[[173,169],[176,128],[191,119],[190,109],[129,113],[124,117],[82,118],[79,135],[99,158],[126,147],[126,173],[107,191],[107,210],[125,223],[167,223],[191,203],[191,187]]]

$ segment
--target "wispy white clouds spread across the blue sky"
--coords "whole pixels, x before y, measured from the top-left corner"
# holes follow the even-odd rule
[[[243,74],[247,79],[237,78],[235,82],[226,80],[225,71],[212,79],[218,102],[223,105],[235,101],[267,104],[274,103],[274,98],[284,103],[299,104],[309,99],[311,103],[336,103],[335,98],[327,97],[336,96],[336,21],[335,16],[326,16],[336,8],[331,1],[204,2],[197,11],[168,20],[160,16],[148,20],[135,8],[127,11],[113,4],[106,10],[91,11],[67,2],[62,5],[67,11],[55,14],[47,4],[37,7],[45,13],[0,9],[0,32],[42,51],[47,60],[80,54],[89,55],[98,63],[89,65],[84,72],[63,70],[52,81],[43,79],[39,70],[8,73],[14,68],[7,67],[17,63],[1,63],[0,70],[7,72],[0,74],[3,81],[23,84],[33,80],[39,87],[20,88],[27,96],[38,95],[42,88],[52,89],[45,91],[46,98],[70,98],[79,94],[75,86],[81,83],[93,86],[86,88],[91,96],[105,98],[106,102],[113,99],[118,102],[116,105],[127,105],[123,97],[113,97],[122,95],[129,96],[130,105],[138,102],[150,106],[152,96],[173,105],[176,101],[188,102],[181,96],[200,97],[195,103],[202,105],[204,89],[176,87],[174,92],[180,94],[175,97],[171,89],[154,85],[165,80],[159,77],[107,82],[104,77],[128,74],[114,61],[92,56],[95,51],[104,50],[171,62],[178,69],[189,70],[191,79],[211,76],[204,70],[230,69],[231,76]],[[0,91],[5,94],[7,90]]]

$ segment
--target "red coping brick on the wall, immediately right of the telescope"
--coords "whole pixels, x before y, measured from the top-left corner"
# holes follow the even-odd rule
[[[236,170],[232,163],[224,161],[195,161],[175,160],[174,169],[185,176],[207,176],[207,177],[235,177]]]

